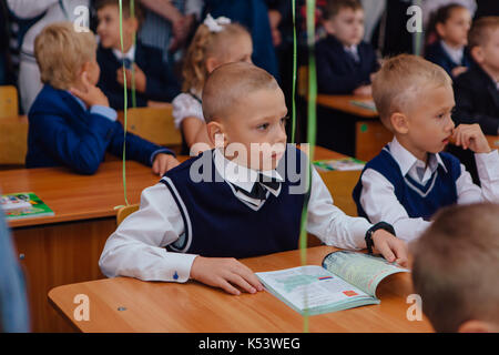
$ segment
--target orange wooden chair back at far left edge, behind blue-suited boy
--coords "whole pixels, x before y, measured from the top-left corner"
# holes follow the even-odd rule
[[[28,152],[28,119],[0,119],[0,169],[21,168]]]

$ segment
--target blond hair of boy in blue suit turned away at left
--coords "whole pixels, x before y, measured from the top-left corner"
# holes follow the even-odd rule
[[[59,90],[70,89],[83,64],[95,60],[95,36],[77,32],[71,22],[49,24],[34,40],[41,81]]]

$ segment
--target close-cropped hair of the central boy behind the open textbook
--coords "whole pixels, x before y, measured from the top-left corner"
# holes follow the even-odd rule
[[[277,81],[265,70],[246,62],[216,68],[203,88],[203,114],[206,122],[225,119],[235,104],[244,103],[252,92],[279,89]]]

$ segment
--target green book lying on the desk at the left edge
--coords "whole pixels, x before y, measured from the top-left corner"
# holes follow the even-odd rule
[[[53,211],[32,192],[1,195],[0,209],[8,221],[54,215]]]

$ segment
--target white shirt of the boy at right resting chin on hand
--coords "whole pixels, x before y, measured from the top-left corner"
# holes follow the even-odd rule
[[[428,166],[409,151],[396,138],[389,143],[391,156],[398,163],[404,176],[409,175],[415,181],[425,184],[442,165],[439,154],[430,154]],[[461,164],[461,175],[456,181],[458,204],[478,203],[483,201],[499,202],[499,154],[497,151],[475,154],[481,189],[473,184],[471,175]],[[425,169],[426,166],[426,169]],[[424,168],[421,174],[418,169]],[[445,166],[444,166],[445,168]],[[421,176],[422,175],[422,176]],[[367,169],[361,178],[363,191],[360,204],[373,223],[385,221],[395,227],[397,236],[406,241],[417,239],[431,222],[422,219],[410,219],[406,209],[395,195],[394,185],[379,172]]]

